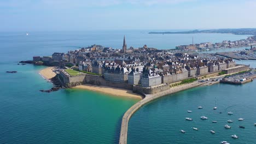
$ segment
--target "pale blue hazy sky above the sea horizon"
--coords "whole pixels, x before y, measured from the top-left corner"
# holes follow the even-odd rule
[[[256,0],[0,0],[0,31],[255,28]]]

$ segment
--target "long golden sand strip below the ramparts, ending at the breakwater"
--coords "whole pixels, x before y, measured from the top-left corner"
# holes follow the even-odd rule
[[[92,91],[107,93],[110,95],[118,95],[122,97],[131,97],[131,98],[138,98],[142,99],[142,96],[136,93],[133,93],[131,90],[121,89],[121,88],[112,88],[106,86],[95,86],[95,85],[80,85],[74,88],[81,88],[81,89],[88,89]]]

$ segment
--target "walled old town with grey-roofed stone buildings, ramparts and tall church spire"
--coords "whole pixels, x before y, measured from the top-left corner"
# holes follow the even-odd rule
[[[33,63],[59,66],[61,69],[55,72],[65,87],[89,83],[139,94],[158,93],[170,89],[173,83],[195,81],[210,74],[249,69],[248,65],[237,65],[232,58],[217,55],[158,50],[147,45],[127,49],[125,37],[123,49],[92,45],[48,57],[34,56]]]

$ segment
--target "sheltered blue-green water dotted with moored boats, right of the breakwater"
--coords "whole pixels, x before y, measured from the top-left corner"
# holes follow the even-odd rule
[[[256,81],[242,86],[217,84],[171,94],[144,105],[130,119],[128,143],[256,143]],[[217,100],[217,110],[213,110]],[[197,106],[203,109],[197,109]],[[187,110],[193,112],[187,113]],[[231,111],[234,115],[228,115]],[[222,113],[219,113],[222,112]],[[208,117],[207,120],[200,119]],[[186,121],[185,117],[193,118]],[[244,121],[237,121],[245,118]],[[231,119],[233,123],[227,121]],[[218,123],[212,123],[218,121]],[[231,129],[225,129],[229,124]],[[238,128],[242,125],[245,129]],[[198,131],[191,127],[199,128]],[[185,130],[182,134],[179,130]],[[216,131],[211,134],[210,130]],[[232,139],[231,135],[239,139]]]

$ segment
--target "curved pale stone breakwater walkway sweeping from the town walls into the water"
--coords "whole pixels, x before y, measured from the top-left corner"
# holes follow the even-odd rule
[[[185,89],[189,89],[189,88],[193,88],[193,87],[213,85],[215,83],[219,83],[219,81],[214,81],[214,82],[210,82],[210,81],[198,82],[198,81],[196,81],[196,82],[188,83],[186,85],[172,87],[166,91],[162,91],[162,92],[159,92],[156,94],[147,94],[144,99],[142,99],[141,101],[138,101],[138,103],[136,103],[135,105],[130,107],[130,109],[125,112],[123,119],[122,119],[122,123],[121,123],[119,144],[127,143],[127,131],[128,131],[129,120],[130,120],[131,116],[133,115],[133,113],[135,113],[141,106],[149,103],[152,100],[158,99],[158,98],[163,97],[168,94],[184,91]]]

